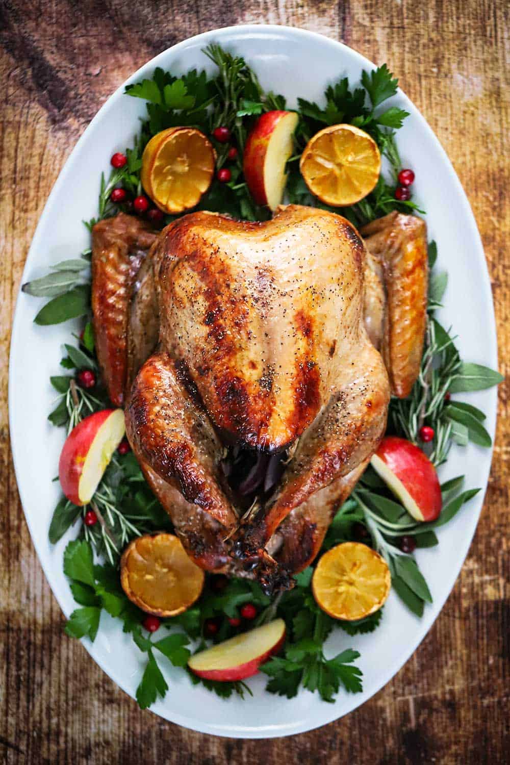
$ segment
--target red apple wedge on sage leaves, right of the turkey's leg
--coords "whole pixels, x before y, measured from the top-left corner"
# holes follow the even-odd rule
[[[387,436],[370,462],[414,519],[434,521],[439,516],[443,500],[436,469],[420,448]]]

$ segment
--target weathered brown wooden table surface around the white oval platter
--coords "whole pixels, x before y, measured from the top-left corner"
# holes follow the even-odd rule
[[[398,675],[347,718],[236,741],[142,712],[63,635],[11,463],[11,317],[37,219],[99,106],[135,69],[242,22],[326,34],[388,66],[446,148],[486,249],[508,373],[508,5],[505,0],[0,0],[0,757],[7,763],[508,762],[508,383],[482,518],[446,606]],[[505,75],[507,77],[505,77]],[[30,370],[28,369],[28,373]]]

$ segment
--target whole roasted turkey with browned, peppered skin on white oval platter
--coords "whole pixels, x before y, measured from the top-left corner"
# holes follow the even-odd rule
[[[111,394],[125,389],[132,448],[203,568],[258,578],[271,591],[291,586],[317,555],[385,431],[388,373],[396,395],[417,374],[426,238],[409,217],[369,230],[370,254],[345,219],[309,207],[282,207],[266,223],[180,218],[138,275],[123,267],[110,277],[128,285],[117,306],[127,326],[123,366],[108,363],[112,330],[97,318],[105,284],[96,282],[104,247],[95,233],[106,384]],[[271,496],[248,512],[220,470],[232,444],[289,455]]]

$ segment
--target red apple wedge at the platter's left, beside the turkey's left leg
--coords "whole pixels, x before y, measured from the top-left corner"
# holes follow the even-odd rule
[[[122,409],[102,409],[73,428],[58,465],[60,486],[68,500],[75,505],[90,502],[124,435]]]

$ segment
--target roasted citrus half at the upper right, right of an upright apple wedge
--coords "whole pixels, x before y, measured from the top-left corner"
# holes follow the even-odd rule
[[[333,207],[366,197],[381,172],[381,153],[374,139],[354,125],[331,125],[307,143],[300,171],[312,194]]]

